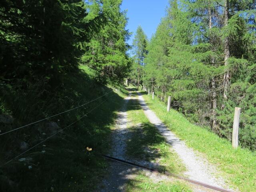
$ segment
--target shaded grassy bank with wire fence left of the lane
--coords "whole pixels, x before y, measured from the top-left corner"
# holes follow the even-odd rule
[[[9,90],[6,86],[5,91],[9,95],[0,101],[5,111],[9,111],[15,118],[14,128],[79,106],[110,92],[113,88],[96,85],[93,73],[86,66],[80,66],[79,71],[68,74],[63,82],[62,88],[49,92],[49,95],[42,98],[37,90],[32,89],[24,96],[13,95],[12,103],[6,99],[16,90]],[[62,129],[105,101],[54,138],[0,167],[0,191],[92,191],[102,181],[107,166],[106,160],[96,153],[106,153],[108,150],[110,130],[126,93],[121,87],[120,94],[115,90],[114,93],[84,107],[47,120],[46,122],[56,122],[59,129]],[[15,110],[12,104],[16,105]],[[1,128],[1,131],[8,130]],[[21,141],[26,142],[30,148],[51,134],[52,130],[40,122],[1,136],[3,145],[0,164],[24,151],[19,148]],[[86,150],[86,147],[92,148],[92,151]]]

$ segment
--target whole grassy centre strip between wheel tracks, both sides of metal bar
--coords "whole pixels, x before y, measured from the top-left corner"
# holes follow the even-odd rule
[[[131,137],[127,140],[126,155],[131,159],[156,162],[158,169],[172,173],[182,174],[186,169],[178,158],[178,155],[172,150],[170,145],[166,144],[164,137],[152,125],[145,116],[138,96],[134,89],[132,97],[128,102],[128,128]],[[145,176],[143,172],[138,172],[135,179],[126,184],[127,191],[170,191],[170,192],[189,192],[185,182],[177,180],[160,180],[159,182]]]

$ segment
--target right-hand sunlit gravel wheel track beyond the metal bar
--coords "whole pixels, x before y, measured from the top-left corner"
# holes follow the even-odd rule
[[[166,138],[166,142],[172,146],[186,165],[187,171],[184,174],[188,176],[188,178],[213,186],[228,188],[223,178],[220,176],[218,176],[218,178],[216,177],[216,175],[218,175],[216,167],[200,156],[200,154],[196,154],[194,150],[188,148],[183,141],[168,130],[156,114],[150,110],[140,93],[138,93],[138,100],[150,123],[158,128],[159,132]]]

